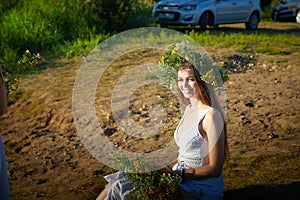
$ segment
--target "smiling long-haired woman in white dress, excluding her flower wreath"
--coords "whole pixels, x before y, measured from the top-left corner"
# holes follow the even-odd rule
[[[186,109],[174,133],[179,155],[172,173],[182,176],[183,199],[222,199],[222,167],[228,151],[223,115],[213,107],[211,86],[190,63],[179,67],[176,82]]]

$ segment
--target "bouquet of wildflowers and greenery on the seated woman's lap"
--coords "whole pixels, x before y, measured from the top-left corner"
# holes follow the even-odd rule
[[[155,159],[155,158],[154,158]],[[132,182],[133,190],[129,200],[179,200],[181,176],[170,174],[165,169],[150,170],[153,159],[135,158],[130,160],[121,156],[114,157],[113,166],[121,169],[127,180]],[[120,166],[122,165],[122,166]],[[153,169],[153,168],[152,168]]]

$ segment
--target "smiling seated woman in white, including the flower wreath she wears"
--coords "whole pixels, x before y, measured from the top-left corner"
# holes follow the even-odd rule
[[[180,51],[185,55],[179,55]],[[149,69],[163,82],[166,80],[172,91],[176,85],[177,94],[185,105],[185,112],[174,133],[179,147],[178,158],[172,163],[172,169],[167,167],[167,171],[181,175],[182,199],[186,200],[221,200],[223,197],[222,168],[228,151],[226,124],[214,95],[216,80],[210,77],[212,66],[206,59],[201,54],[188,51],[185,43],[180,43],[167,48],[158,69]],[[198,66],[194,67],[191,63]],[[205,68],[202,70],[206,71],[204,76],[199,68]],[[128,182],[123,177],[120,180],[116,182],[118,185],[107,185],[97,200],[107,196],[109,199],[123,199],[120,198],[123,190],[118,188]],[[128,187],[126,191],[130,189]],[[118,198],[111,198],[116,196]]]

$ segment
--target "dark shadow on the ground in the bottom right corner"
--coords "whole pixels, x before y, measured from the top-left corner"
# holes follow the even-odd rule
[[[227,190],[223,200],[298,200],[300,199],[300,182],[277,186],[249,186],[246,188]]]

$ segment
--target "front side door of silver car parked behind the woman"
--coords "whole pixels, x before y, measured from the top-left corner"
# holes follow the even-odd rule
[[[217,0],[216,1],[216,24],[236,21],[238,0]]]

